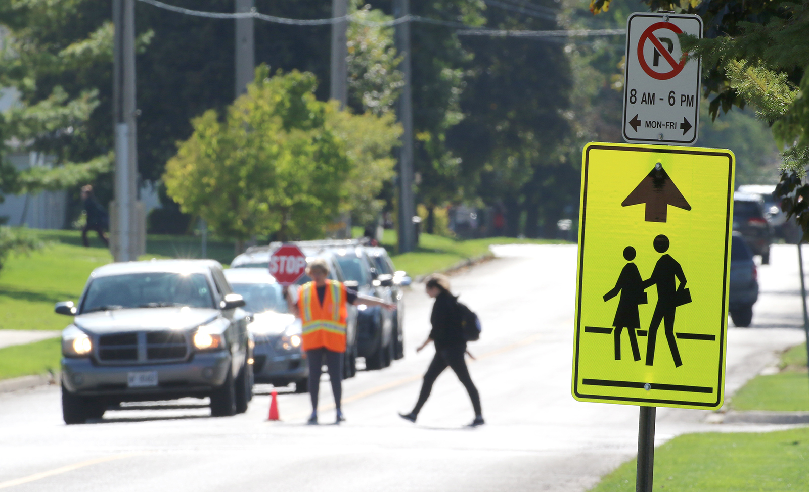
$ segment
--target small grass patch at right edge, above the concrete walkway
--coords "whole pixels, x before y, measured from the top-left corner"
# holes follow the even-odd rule
[[[731,399],[735,410],[809,411],[806,344],[781,355],[781,372],[756,376]],[[809,457],[809,456],[807,456]]]

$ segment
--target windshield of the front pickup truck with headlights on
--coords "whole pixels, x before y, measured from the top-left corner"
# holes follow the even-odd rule
[[[87,288],[82,312],[174,305],[214,307],[205,275],[158,271],[99,277]]]

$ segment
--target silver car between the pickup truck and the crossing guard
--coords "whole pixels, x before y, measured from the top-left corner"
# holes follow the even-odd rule
[[[248,330],[253,335],[253,377],[256,383],[295,385],[295,393],[306,393],[309,368],[301,322],[289,313],[281,285],[265,268],[228,268],[225,278],[233,291],[244,298],[250,315]]]

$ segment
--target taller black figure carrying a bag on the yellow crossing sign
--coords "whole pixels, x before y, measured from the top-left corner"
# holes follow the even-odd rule
[[[666,236],[660,234],[654,238],[654,250],[663,253],[663,256],[654,264],[654,270],[649,280],[643,281],[643,288],[650,288],[657,285],[658,301],[654,306],[652,322],[649,326],[648,340],[646,342],[646,365],[654,365],[654,345],[657,341],[657,331],[660,322],[665,326],[668,348],[671,350],[671,357],[674,359],[675,367],[683,365],[680,359],[680,351],[677,349],[677,340],[674,334],[674,315],[677,306],[691,302],[691,292],[685,288],[685,274],[683,267],[671,258],[670,254],[665,254],[668,250],[669,241]],[[676,285],[676,281],[680,285]]]

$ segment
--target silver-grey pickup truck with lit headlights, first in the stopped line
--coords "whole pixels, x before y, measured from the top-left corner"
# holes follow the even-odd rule
[[[247,410],[252,339],[244,299],[214,260],[152,260],[96,268],[62,331],[65,423],[121,402],[210,397],[214,416]]]

